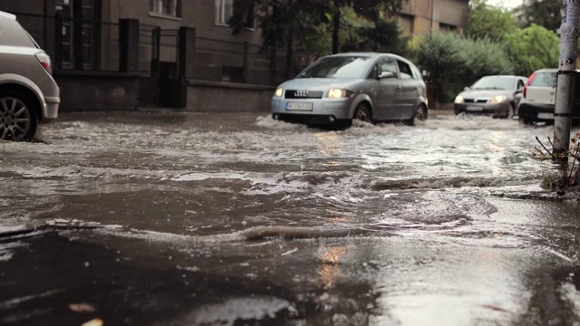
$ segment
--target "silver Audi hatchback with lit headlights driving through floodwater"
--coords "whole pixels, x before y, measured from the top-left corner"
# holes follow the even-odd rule
[[[324,56],[282,83],[271,101],[275,120],[349,126],[427,119],[427,89],[417,67],[389,53]]]

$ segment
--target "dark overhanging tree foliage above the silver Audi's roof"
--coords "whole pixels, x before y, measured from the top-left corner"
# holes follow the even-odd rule
[[[341,40],[346,40],[347,48],[380,48],[379,45],[385,42],[389,42],[387,45],[394,43],[399,35],[393,28],[396,22],[385,17],[398,14],[402,1],[236,0],[228,23],[233,27],[232,33],[240,33],[247,7],[253,6],[267,46],[296,46],[307,51],[327,53],[327,44],[331,43],[332,52],[336,53],[342,50]],[[350,14],[351,18],[345,19],[345,14]],[[353,17],[362,18],[367,23],[350,25],[350,34],[343,34],[342,27],[355,20]],[[360,40],[363,38],[368,38],[370,43],[362,43]]]

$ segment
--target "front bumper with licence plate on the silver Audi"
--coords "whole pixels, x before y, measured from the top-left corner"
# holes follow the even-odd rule
[[[289,103],[307,106],[308,109],[293,110]],[[281,99],[273,98],[270,108],[273,116],[292,120],[348,120],[353,118],[353,99]],[[284,119],[286,120],[286,119]]]

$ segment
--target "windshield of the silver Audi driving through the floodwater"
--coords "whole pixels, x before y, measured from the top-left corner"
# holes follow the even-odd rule
[[[362,78],[370,61],[368,56],[325,57],[308,66],[296,78]]]

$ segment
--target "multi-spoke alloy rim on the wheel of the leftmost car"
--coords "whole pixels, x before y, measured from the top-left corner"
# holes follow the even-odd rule
[[[13,97],[0,99],[0,139],[23,140],[31,126],[30,111]]]

